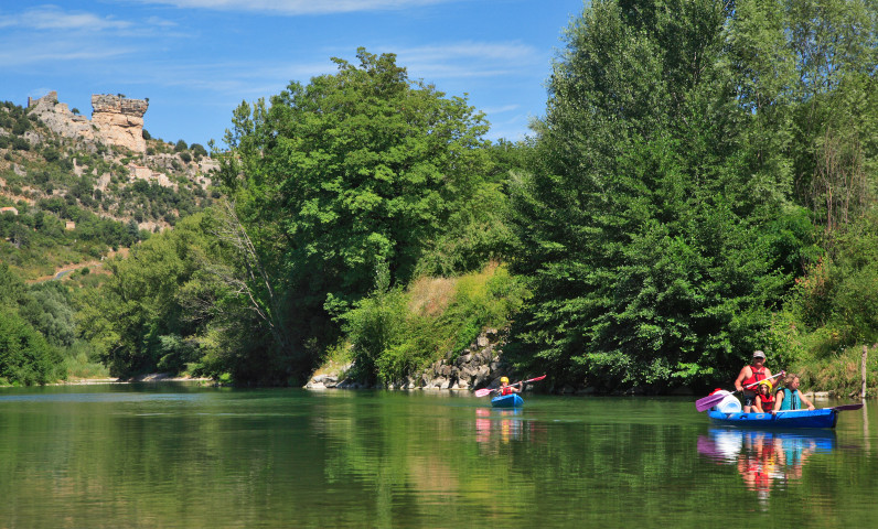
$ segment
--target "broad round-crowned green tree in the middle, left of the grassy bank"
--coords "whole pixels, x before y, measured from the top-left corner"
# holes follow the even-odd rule
[[[465,99],[410,80],[393,54],[357,58],[334,58],[336,74],[292,83],[270,106],[243,104],[220,156],[271,271],[259,282],[274,293],[254,291],[283,300],[275,314],[291,319],[291,344],[336,333],[330,317],[370,292],[376,267],[407,282],[488,172],[486,125]]]

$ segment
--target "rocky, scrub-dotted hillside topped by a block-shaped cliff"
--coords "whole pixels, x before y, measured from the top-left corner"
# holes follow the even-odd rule
[[[25,280],[99,261],[220,196],[204,147],[143,128],[148,101],[92,99],[92,120],[55,93],[0,104],[0,260]]]

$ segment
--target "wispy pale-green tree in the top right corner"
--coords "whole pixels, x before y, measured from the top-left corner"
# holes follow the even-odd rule
[[[878,148],[878,6],[789,1],[782,12],[796,74],[789,148],[796,190],[832,237],[875,199],[866,175]]]

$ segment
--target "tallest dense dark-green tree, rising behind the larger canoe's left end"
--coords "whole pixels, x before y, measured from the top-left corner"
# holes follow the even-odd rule
[[[537,162],[514,188],[513,262],[534,290],[520,350],[561,382],[698,382],[765,347],[790,278],[763,226],[789,192],[782,173],[751,177],[730,10],[596,1],[567,32]]]

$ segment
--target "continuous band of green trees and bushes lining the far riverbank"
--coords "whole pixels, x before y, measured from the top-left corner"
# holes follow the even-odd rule
[[[6,325],[119,376],[240,384],[298,384],[326,355],[395,382],[510,325],[506,353],[556,388],[714,386],[754,348],[825,376],[878,339],[876,28],[866,0],[595,0],[534,137],[496,143],[464,98],[361,48],[234,110],[217,202],[121,185],[129,160],[99,152],[76,175],[9,107],[3,160],[43,195],[0,217],[4,262],[136,248],[76,291],[0,284]],[[143,219],[175,227],[138,245]]]

